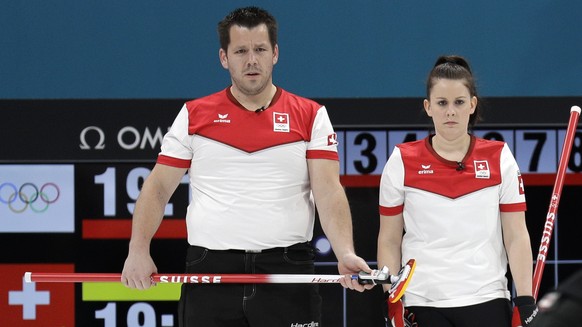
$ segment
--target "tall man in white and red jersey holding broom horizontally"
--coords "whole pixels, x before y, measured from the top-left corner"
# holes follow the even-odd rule
[[[188,170],[187,273],[312,274],[313,202],[340,274],[370,272],[354,252],[325,107],[273,84],[275,18],[256,7],[237,9],[218,33],[232,85],[187,102],[164,137],[137,201],[122,282],[151,286],[157,268],[150,241]],[[349,278],[341,284],[371,287]],[[184,284],[178,320],[180,326],[319,326],[321,297],[311,284]]]

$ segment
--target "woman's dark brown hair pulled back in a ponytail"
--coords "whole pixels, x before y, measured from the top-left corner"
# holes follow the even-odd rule
[[[463,80],[463,83],[467,89],[469,89],[469,95],[471,97],[479,98],[471,67],[467,60],[461,56],[441,56],[437,59],[426,80],[427,99],[430,99],[430,92],[439,79]],[[477,122],[481,121],[480,102],[481,101],[477,101],[475,112],[471,117],[469,117],[469,130],[471,130]]]

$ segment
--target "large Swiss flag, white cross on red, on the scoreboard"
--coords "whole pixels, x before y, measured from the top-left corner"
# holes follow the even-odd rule
[[[73,264],[0,264],[0,326],[75,326],[73,283],[26,283],[25,272],[74,272]]]

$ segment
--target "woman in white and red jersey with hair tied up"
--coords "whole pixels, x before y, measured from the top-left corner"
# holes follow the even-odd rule
[[[507,144],[470,134],[479,119],[475,80],[459,56],[437,59],[424,110],[434,134],[395,147],[380,183],[378,266],[416,259],[389,326],[512,326],[507,264],[517,297],[513,326],[537,312],[525,195]],[[387,303],[388,305],[388,303]]]

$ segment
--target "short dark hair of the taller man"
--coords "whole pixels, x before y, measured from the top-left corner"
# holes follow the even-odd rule
[[[259,7],[245,7],[235,9],[218,23],[218,38],[220,47],[226,51],[230,44],[230,28],[234,25],[253,28],[261,24],[267,26],[271,46],[277,44],[277,20],[268,11]]]

